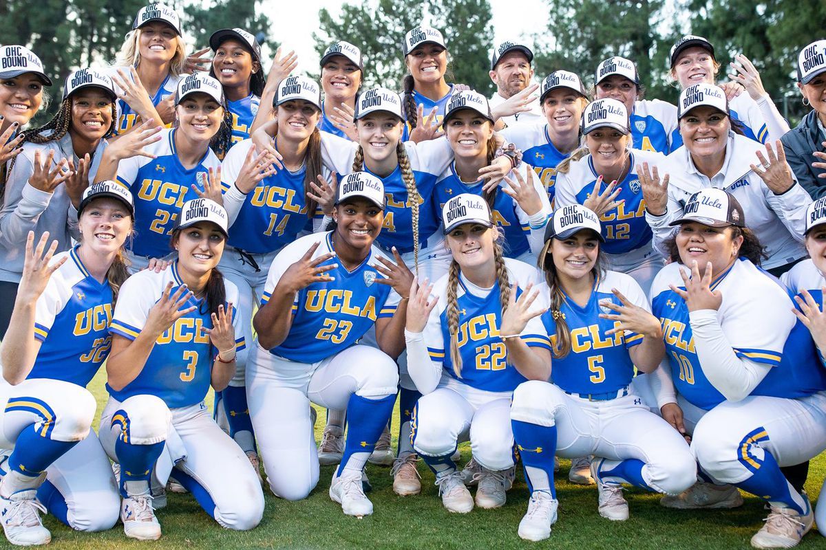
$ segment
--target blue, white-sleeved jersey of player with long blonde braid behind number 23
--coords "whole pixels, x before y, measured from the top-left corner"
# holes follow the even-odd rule
[[[419,193],[419,246],[424,248],[439,228],[441,209],[434,209],[434,186],[439,174],[453,162],[453,149],[447,138],[430,139],[421,143],[406,141],[403,143],[410,160],[411,171]],[[321,157],[325,167],[341,176],[353,172],[353,161],[358,150],[358,143],[338,138],[331,134],[321,134]],[[363,170],[373,173],[367,167]],[[384,224],[376,242],[385,250],[396,247],[401,254],[413,251],[413,217],[411,200],[407,186],[401,175],[401,167],[396,167],[391,174],[380,176],[373,174],[384,184],[386,207]]]

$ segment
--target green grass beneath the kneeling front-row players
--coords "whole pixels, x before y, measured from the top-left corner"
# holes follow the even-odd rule
[[[103,371],[101,371],[102,374]],[[98,400],[98,413],[106,401],[102,376],[90,388]],[[322,411],[323,412],[323,411]],[[396,413],[397,414],[397,413]],[[324,415],[320,414],[319,419]],[[397,418],[397,416],[396,416]],[[394,421],[395,422],[395,421]],[[316,439],[323,423],[316,423]],[[96,426],[97,429],[97,426]],[[468,444],[461,447],[470,457]],[[321,478],[305,501],[287,502],[264,491],[267,508],[258,528],[237,533],[222,529],[203,512],[190,495],[169,495],[169,505],[158,511],[164,537],[158,543],[126,539],[121,524],[107,533],[76,533],[53,516],[46,516],[54,548],[751,548],[749,538],[766,515],[761,501],[747,497],[738,510],[707,512],[667,510],[657,495],[630,490],[626,497],[631,518],[622,523],[603,519],[596,511],[596,488],[567,482],[567,461],[557,484],[559,520],[551,538],[526,543],[516,534],[525,513],[528,491],[521,472],[499,510],[473,510],[468,515],[444,510],[433,485],[433,474],[420,463],[423,491],[401,497],[392,492],[389,468],[368,465],[373,483],[369,493],[375,512],[364,519],[342,514],[327,490],[333,467],[321,468]],[[807,490],[812,500],[826,474],[826,458],[813,461]],[[5,542],[5,541],[4,541]],[[801,548],[826,548],[826,538],[814,529]]]

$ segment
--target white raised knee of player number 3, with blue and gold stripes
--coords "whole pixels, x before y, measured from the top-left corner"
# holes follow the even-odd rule
[[[172,413],[164,400],[154,395],[135,395],[121,403],[112,416],[112,426],[125,432],[125,443],[150,445],[166,440]]]

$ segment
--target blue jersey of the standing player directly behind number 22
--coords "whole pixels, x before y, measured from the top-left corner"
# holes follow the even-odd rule
[[[530,170],[531,168],[523,163],[517,170]],[[511,178],[515,176],[511,173]],[[527,176],[523,176],[527,177]],[[520,208],[520,205],[506,195],[501,187],[507,187],[507,182],[502,180],[499,184],[500,189],[496,189],[496,197],[493,200],[493,207],[491,208],[491,215],[496,226],[505,234],[505,256],[509,258],[518,258],[531,250],[529,236],[531,233],[529,216],[525,214],[525,210]],[[534,187],[539,193],[539,199],[543,200],[543,206],[550,214],[550,204],[548,204],[548,196],[544,193],[544,188],[539,178],[534,178]],[[442,211],[442,207],[451,198],[461,193],[471,193],[483,197],[482,181],[474,181],[473,183],[465,183],[462,181],[454,164],[444,171],[439,181],[436,182],[436,188],[433,193],[434,208]]]

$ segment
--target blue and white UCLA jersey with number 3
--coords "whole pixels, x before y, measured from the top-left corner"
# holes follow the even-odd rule
[[[183,284],[178,275],[178,261],[160,273],[153,270],[139,271],[121,286],[110,331],[113,335],[135,340],[143,330],[150,310],[164,294],[169,282],[173,282],[170,295]],[[238,303],[235,284],[224,280],[226,302]],[[150,356],[140,374],[125,388],[115,391],[107,384],[107,390],[122,402],[133,395],[156,395],[167,407],[188,407],[203,401],[210,387],[212,362],[218,351],[211,345],[203,331],[212,328],[210,312],[204,299],[191,297],[182,308],[195,306],[195,311],[179,318],[172,327],[155,341]],[[244,350],[245,342],[238,310],[232,308],[232,326],[235,328],[236,352]]]

